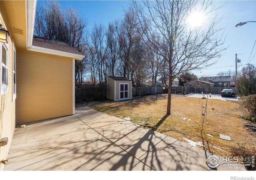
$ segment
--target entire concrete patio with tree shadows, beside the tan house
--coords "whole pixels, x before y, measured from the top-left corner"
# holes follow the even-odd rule
[[[19,127],[5,171],[212,170],[206,164],[209,152],[91,108]]]

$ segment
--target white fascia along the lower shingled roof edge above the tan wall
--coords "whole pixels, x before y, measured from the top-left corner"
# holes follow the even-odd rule
[[[57,56],[64,56],[64,57],[68,57],[68,58],[74,58],[76,60],[82,60],[84,58],[84,55],[73,54],[73,53],[63,52],[63,51],[58,51],[58,50],[52,50],[52,49],[42,48],[42,47],[33,46],[33,45],[30,48],[28,48],[28,50],[35,51],[35,52],[42,52],[42,53],[46,53],[46,54],[53,54],[53,55],[57,55]]]

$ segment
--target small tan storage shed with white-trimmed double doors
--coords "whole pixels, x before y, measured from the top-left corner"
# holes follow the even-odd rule
[[[107,98],[114,101],[132,98],[132,81],[124,77],[107,77]]]

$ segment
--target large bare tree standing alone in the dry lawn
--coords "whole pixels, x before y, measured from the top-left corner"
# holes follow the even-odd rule
[[[217,28],[218,16],[214,16],[207,28],[188,26],[187,18],[199,3],[204,14],[214,11],[209,1],[133,1],[134,14],[140,21],[139,32],[168,63],[170,85],[183,72],[214,64],[214,58],[219,58],[225,50],[220,48],[224,41],[219,34],[221,29]],[[155,41],[156,38],[160,40]],[[171,113],[171,93],[168,88],[166,115]]]

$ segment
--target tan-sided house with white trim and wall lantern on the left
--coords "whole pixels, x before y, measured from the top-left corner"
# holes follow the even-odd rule
[[[84,56],[62,42],[34,34],[36,0],[0,1],[0,160],[17,124],[75,114],[75,60]],[[6,144],[7,142],[7,144]],[[3,170],[4,164],[0,164]]]

